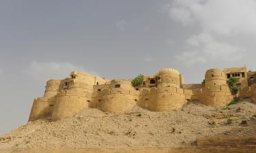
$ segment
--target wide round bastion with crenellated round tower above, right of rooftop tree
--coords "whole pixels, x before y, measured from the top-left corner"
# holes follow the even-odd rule
[[[141,90],[138,105],[154,112],[170,112],[186,103],[182,75],[176,69],[160,69],[156,74],[157,86]],[[191,95],[189,95],[191,96]]]

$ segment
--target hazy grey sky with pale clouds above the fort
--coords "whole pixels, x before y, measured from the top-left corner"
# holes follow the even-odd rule
[[[0,0],[0,134],[25,124],[46,80],[173,67],[256,70],[256,0]]]

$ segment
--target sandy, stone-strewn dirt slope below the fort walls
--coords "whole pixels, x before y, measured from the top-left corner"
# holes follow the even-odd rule
[[[177,111],[134,107],[125,114],[85,109],[66,120],[28,122],[0,137],[1,148],[115,148],[193,146],[203,137],[256,135],[256,104],[243,99],[215,109],[189,101]]]

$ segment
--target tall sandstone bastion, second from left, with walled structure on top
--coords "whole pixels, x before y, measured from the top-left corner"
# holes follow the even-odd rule
[[[72,72],[71,78],[62,81],[62,90],[53,107],[52,120],[69,118],[88,108],[93,101],[93,86],[107,80],[87,73]]]

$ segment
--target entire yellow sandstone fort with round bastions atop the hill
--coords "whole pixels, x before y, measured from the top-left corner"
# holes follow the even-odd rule
[[[239,80],[240,90],[236,95],[232,95],[227,85],[231,77]],[[256,71],[247,71],[246,66],[209,69],[201,84],[185,84],[182,74],[171,68],[144,76],[138,86],[132,86],[131,81],[107,80],[77,71],[63,80],[48,80],[44,97],[33,101],[29,121],[62,120],[88,107],[122,113],[138,105],[154,112],[170,112],[189,100],[212,107],[225,106],[234,97],[256,100]]]

